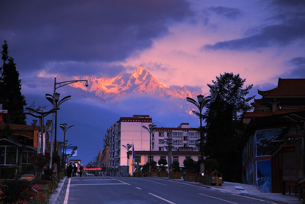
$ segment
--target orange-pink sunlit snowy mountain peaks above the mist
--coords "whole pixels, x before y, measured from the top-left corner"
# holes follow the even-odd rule
[[[190,90],[185,86],[166,86],[160,83],[143,67],[138,67],[132,74],[125,73],[112,78],[106,76],[99,78],[95,76],[84,76],[75,77],[73,80],[79,79],[88,80],[89,87],[85,87],[83,83],[72,83],[70,86],[88,91],[109,102],[117,102],[120,100],[120,97],[133,94],[154,95],[168,100],[185,99],[186,97],[196,97],[202,94],[200,90]]]

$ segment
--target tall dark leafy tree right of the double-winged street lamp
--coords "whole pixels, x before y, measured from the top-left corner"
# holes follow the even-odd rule
[[[226,181],[239,181],[241,177],[239,145],[245,128],[241,114],[252,109],[248,102],[255,97],[246,97],[253,84],[243,88],[245,81],[239,74],[224,73],[212,80],[213,84],[207,84],[212,99],[203,115],[204,150],[206,156],[219,162],[218,171]]]

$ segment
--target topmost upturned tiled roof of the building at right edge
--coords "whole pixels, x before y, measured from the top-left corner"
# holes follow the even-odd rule
[[[278,87],[268,90],[257,90],[264,97],[305,97],[305,79],[278,79]]]

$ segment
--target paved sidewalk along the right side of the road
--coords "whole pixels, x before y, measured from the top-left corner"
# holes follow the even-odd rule
[[[160,178],[160,177],[157,177]],[[203,186],[207,188],[211,188],[218,191],[224,191],[239,195],[245,195],[252,198],[258,198],[258,199],[265,199],[273,202],[278,203],[285,203],[285,204],[302,204],[301,201],[299,201],[299,197],[296,197],[293,195],[282,195],[281,193],[263,193],[259,187],[253,186],[253,185],[247,185],[247,184],[239,184],[239,183],[231,183],[231,182],[224,182],[221,186],[208,186],[203,185],[195,182],[187,182],[183,179],[169,179],[169,178],[160,178],[165,180],[172,180],[176,182],[181,183],[187,183],[197,186]]]

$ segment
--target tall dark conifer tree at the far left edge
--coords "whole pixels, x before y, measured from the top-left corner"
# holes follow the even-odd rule
[[[16,70],[14,58],[9,57],[7,41],[2,45],[3,65],[0,67],[0,104],[8,110],[12,124],[26,124],[23,107],[27,105],[24,95],[21,95],[21,80]]]

